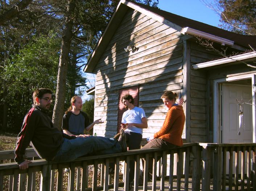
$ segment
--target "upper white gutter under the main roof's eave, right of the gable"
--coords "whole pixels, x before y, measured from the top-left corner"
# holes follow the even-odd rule
[[[190,34],[190,35],[194,35],[194,36],[200,36],[203,39],[209,39],[209,40],[212,40],[213,42],[220,43],[221,45],[230,45],[230,46],[234,45],[234,41],[232,41],[232,40],[224,39],[219,36],[208,34],[206,32],[191,29],[189,27],[183,28],[181,33],[182,34]]]

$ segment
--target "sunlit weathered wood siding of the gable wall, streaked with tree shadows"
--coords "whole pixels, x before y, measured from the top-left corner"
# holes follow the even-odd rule
[[[105,121],[95,125],[97,135],[116,134],[119,89],[138,84],[139,107],[148,118],[143,137],[160,129],[167,112],[161,95],[166,90],[179,93],[182,87],[185,36],[140,12],[128,10],[94,69],[95,119]],[[125,52],[128,45],[135,45],[136,50]]]

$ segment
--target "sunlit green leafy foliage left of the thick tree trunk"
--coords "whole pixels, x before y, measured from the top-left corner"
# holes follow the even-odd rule
[[[55,92],[59,49],[60,40],[54,34],[34,38],[1,70],[0,77],[7,87],[7,95],[2,99],[8,103],[9,130],[20,130],[36,88],[46,87]]]

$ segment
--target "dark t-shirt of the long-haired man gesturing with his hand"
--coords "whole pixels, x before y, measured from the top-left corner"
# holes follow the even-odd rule
[[[72,112],[64,114],[62,119],[62,130],[66,129],[73,135],[84,134],[84,129],[91,123],[86,113],[80,111],[78,115]]]

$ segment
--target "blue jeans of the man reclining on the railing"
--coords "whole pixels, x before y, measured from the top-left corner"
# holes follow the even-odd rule
[[[115,139],[108,139],[103,136],[77,137],[75,139],[63,138],[61,148],[53,161],[68,162],[89,153],[103,155],[117,152],[122,152],[122,148]]]

